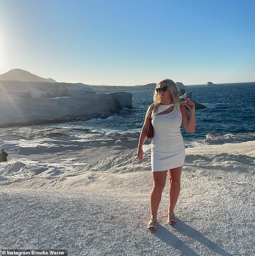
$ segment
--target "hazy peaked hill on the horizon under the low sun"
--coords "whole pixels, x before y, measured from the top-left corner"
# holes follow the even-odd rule
[[[0,80],[56,83],[56,81],[52,78],[42,78],[19,68],[15,68],[4,74],[0,74]]]

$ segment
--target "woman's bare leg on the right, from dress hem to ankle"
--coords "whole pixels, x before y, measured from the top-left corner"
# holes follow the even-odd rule
[[[169,207],[168,212],[173,213],[181,190],[181,167],[169,170]]]

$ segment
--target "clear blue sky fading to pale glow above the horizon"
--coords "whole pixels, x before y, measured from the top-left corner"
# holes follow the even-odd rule
[[[58,82],[255,81],[255,0],[0,0],[0,74]]]

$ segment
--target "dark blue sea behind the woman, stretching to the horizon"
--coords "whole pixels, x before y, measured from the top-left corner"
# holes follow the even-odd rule
[[[193,85],[185,87],[192,93],[192,100],[206,106],[196,109],[196,128],[188,133],[183,127],[184,140],[205,140],[206,135],[236,136],[236,140],[255,139],[255,82],[232,83],[215,86]],[[108,118],[50,124],[43,127],[68,128],[86,132],[140,133],[149,105],[153,102],[154,90],[128,91],[132,93],[132,109],[121,109]],[[243,134],[243,136],[241,136]],[[244,138],[245,137],[245,138]]]

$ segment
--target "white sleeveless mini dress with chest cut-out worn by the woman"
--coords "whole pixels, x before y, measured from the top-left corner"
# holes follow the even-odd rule
[[[172,105],[159,105],[157,114]],[[152,117],[154,128],[151,142],[152,172],[180,167],[185,160],[185,148],[180,129],[182,123],[180,104],[176,104],[170,113],[158,116],[157,114]]]

